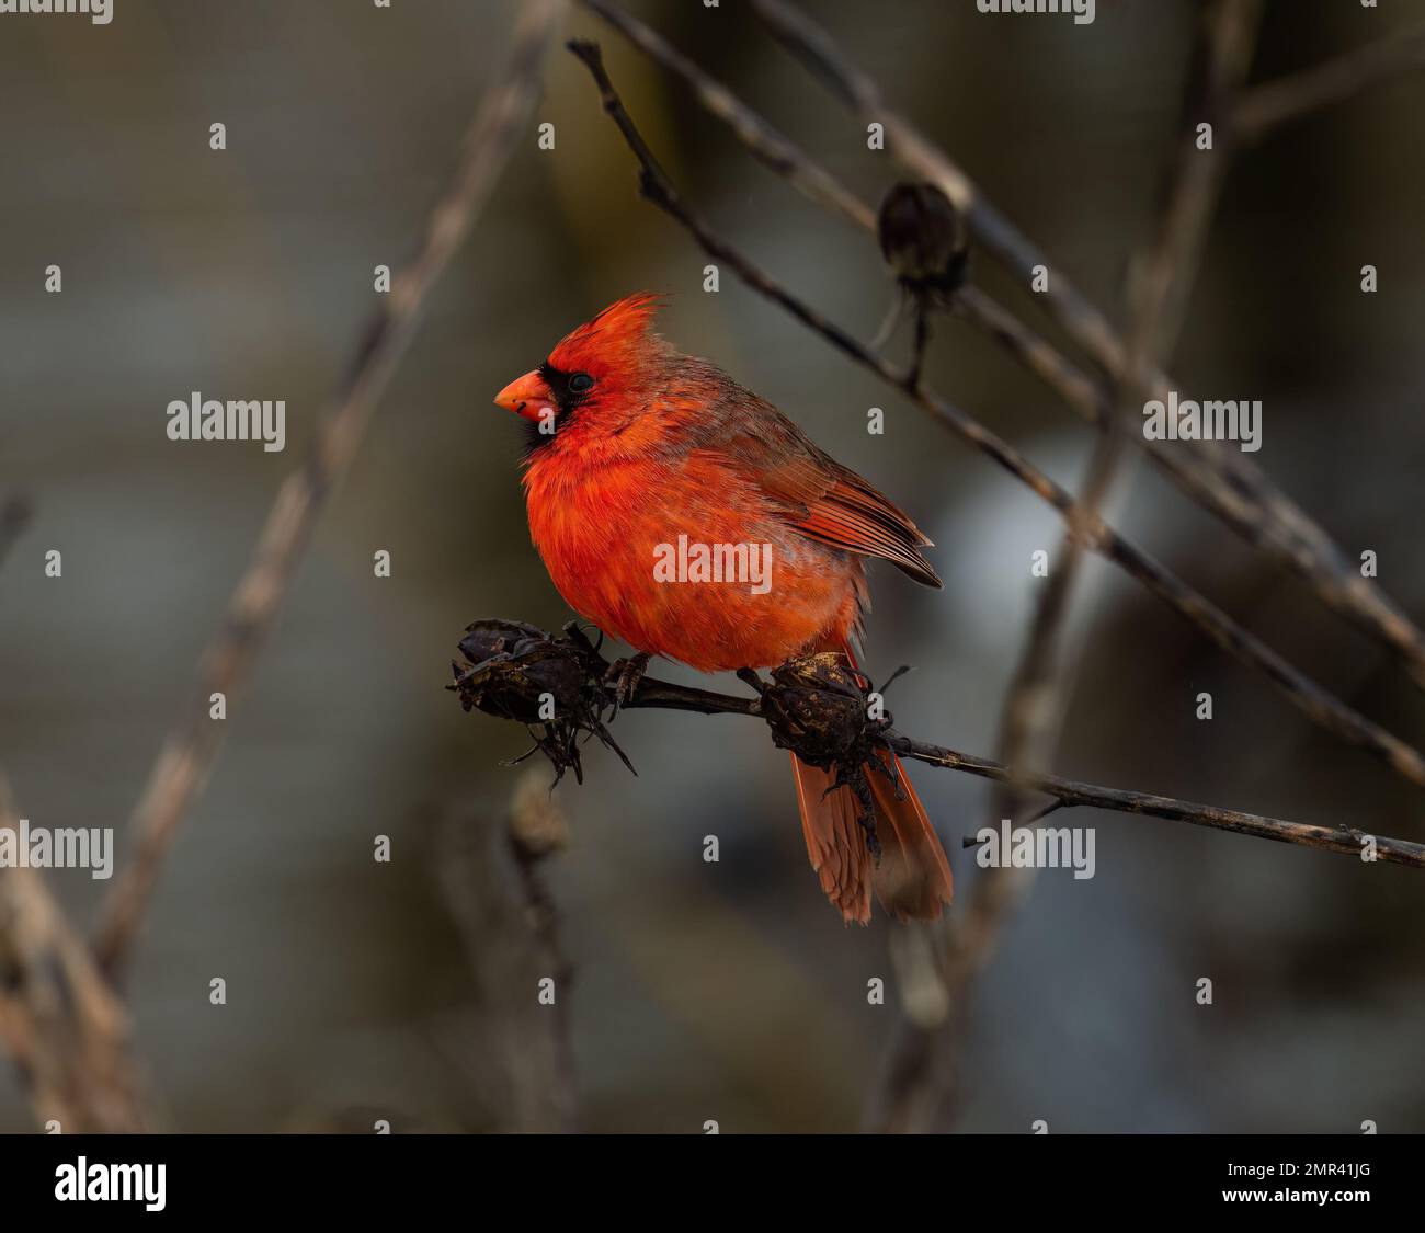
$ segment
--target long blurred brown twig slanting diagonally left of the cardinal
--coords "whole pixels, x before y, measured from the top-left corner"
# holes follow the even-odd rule
[[[124,964],[178,825],[212,773],[227,723],[208,717],[209,696],[225,694],[231,714],[234,693],[251,677],[316,519],[351,469],[432,288],[523,134],[539,93],[539,68],[563,7],[563,0],[530,0],[524,6],[509,66],[480,103],[455,180],[430,214],[422,251],[392,282],[389,302],[365,331],[309,456],[276,495],[227,621],[204,657],[190,717],[168,737],[134,811],[134,854],[103,907],[95,941],[105,972],[115,974]]]

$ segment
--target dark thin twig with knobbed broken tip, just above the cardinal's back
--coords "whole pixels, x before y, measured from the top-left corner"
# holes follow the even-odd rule
[[[604,111],[618,125],[630,148],[636,155],[640,151],[646,151],[647,145],[643,137],[638,134],[613,83],[608,80],[597,44],[576,41],[570,44],[570,50],[589,67],[598,86]],[[1385,731],[1379,724],[1365,718],[1298,671],[1258,637],[1237,624],[1227,613],[1213,604],[1211,600],[1173,574],[1164,564],[1123,539],[1103,519],[1080,516],[1077,502],[1074,502],[1069,492],[1039,470],[1012,445],[990,432],[972,415],[935,393],[929,386],[919,382],[908,385],[903,375],[895,372],[886,361],[875,355],[838,325],[828,321],[802,299],[792,295],[740,249],[712,232],[683,201],[667,177],[658,171],[656,162],[640,157],[640,187],[644,197],[681,222],[708,255],[730,265],[750,287],[781,305],[844,355],[875,372],[882,381],[901,389],[939,423],[959,433],[965,440],[999,463],[1042,500],[1053,506],[1066,523],[1077,527],[1090,550],[1102,554],[1143,583],[1153,594],[1159,596],[1186,620],[1197,626],[1223,650],[1253,670],[1263,673],[1302,713],[1341,740],[1368,750],[1411,783],[1425,787],[1425,757],[1416,750]]]

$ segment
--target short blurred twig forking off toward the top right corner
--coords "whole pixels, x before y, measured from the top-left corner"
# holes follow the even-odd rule
[[[1245,91],[1233,114],[1233,130],[1238,143],[1253,144],[1284,124],[1422,67],[1425,23]]]

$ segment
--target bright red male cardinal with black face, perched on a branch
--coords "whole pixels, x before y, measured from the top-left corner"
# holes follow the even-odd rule
[[[921,554],[931,540],[770,402],[665,342],[653,326],[658,302],[620,299],[494,399],[530,421],[530,536],[554,586],[644,657],[711,673],[831,650],[855,667],[865,559],[939,587]],[[745,546],[738,560],[770,570],[704,582],[688,564],[700,546]],[[674,554],[685,582],[668,576]],[[882,758],[893,781],[866,770],[876,860],[852,790],[792,755],[812,868],[846,921],[869,921],[872,888],[901,919],[939,917],[949,864],[899,760]]]

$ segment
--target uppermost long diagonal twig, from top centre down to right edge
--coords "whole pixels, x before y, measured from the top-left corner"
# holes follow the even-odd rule
[[[881,88],[852,66],[826,30],[788,0],[752,0],[752,7],[792,54],[866,123],[878,123],[889,153],[916,175],[938,185],[966,212],[979,242],[1029,285],[1037,267],[1050,269],[1047,291],[1037,296],[1054,319],[1119,385],[1133,381],[1127,345],[1107,318],[1054,268],[1035,244],[985,197],[980,188],[909,120],[895,111]],[[1160,368],[1143,375],[1140,393],[1166,399],[1178,386]],[[1395,650],[1412,680],[1425,688],[1425,633],[1387,596],[1361,576],[1351,560],[1300,506],[1297,506],[1247,455],[1221,442],[1178,442],[1218,473],[1235,493],[1231,525],[1251,543],[1305,577],[1320,599],[1359,629]],[[1156,458],[1167,459],[1166,452]],[[1176,473],[1193,480],[1181,468]]]

